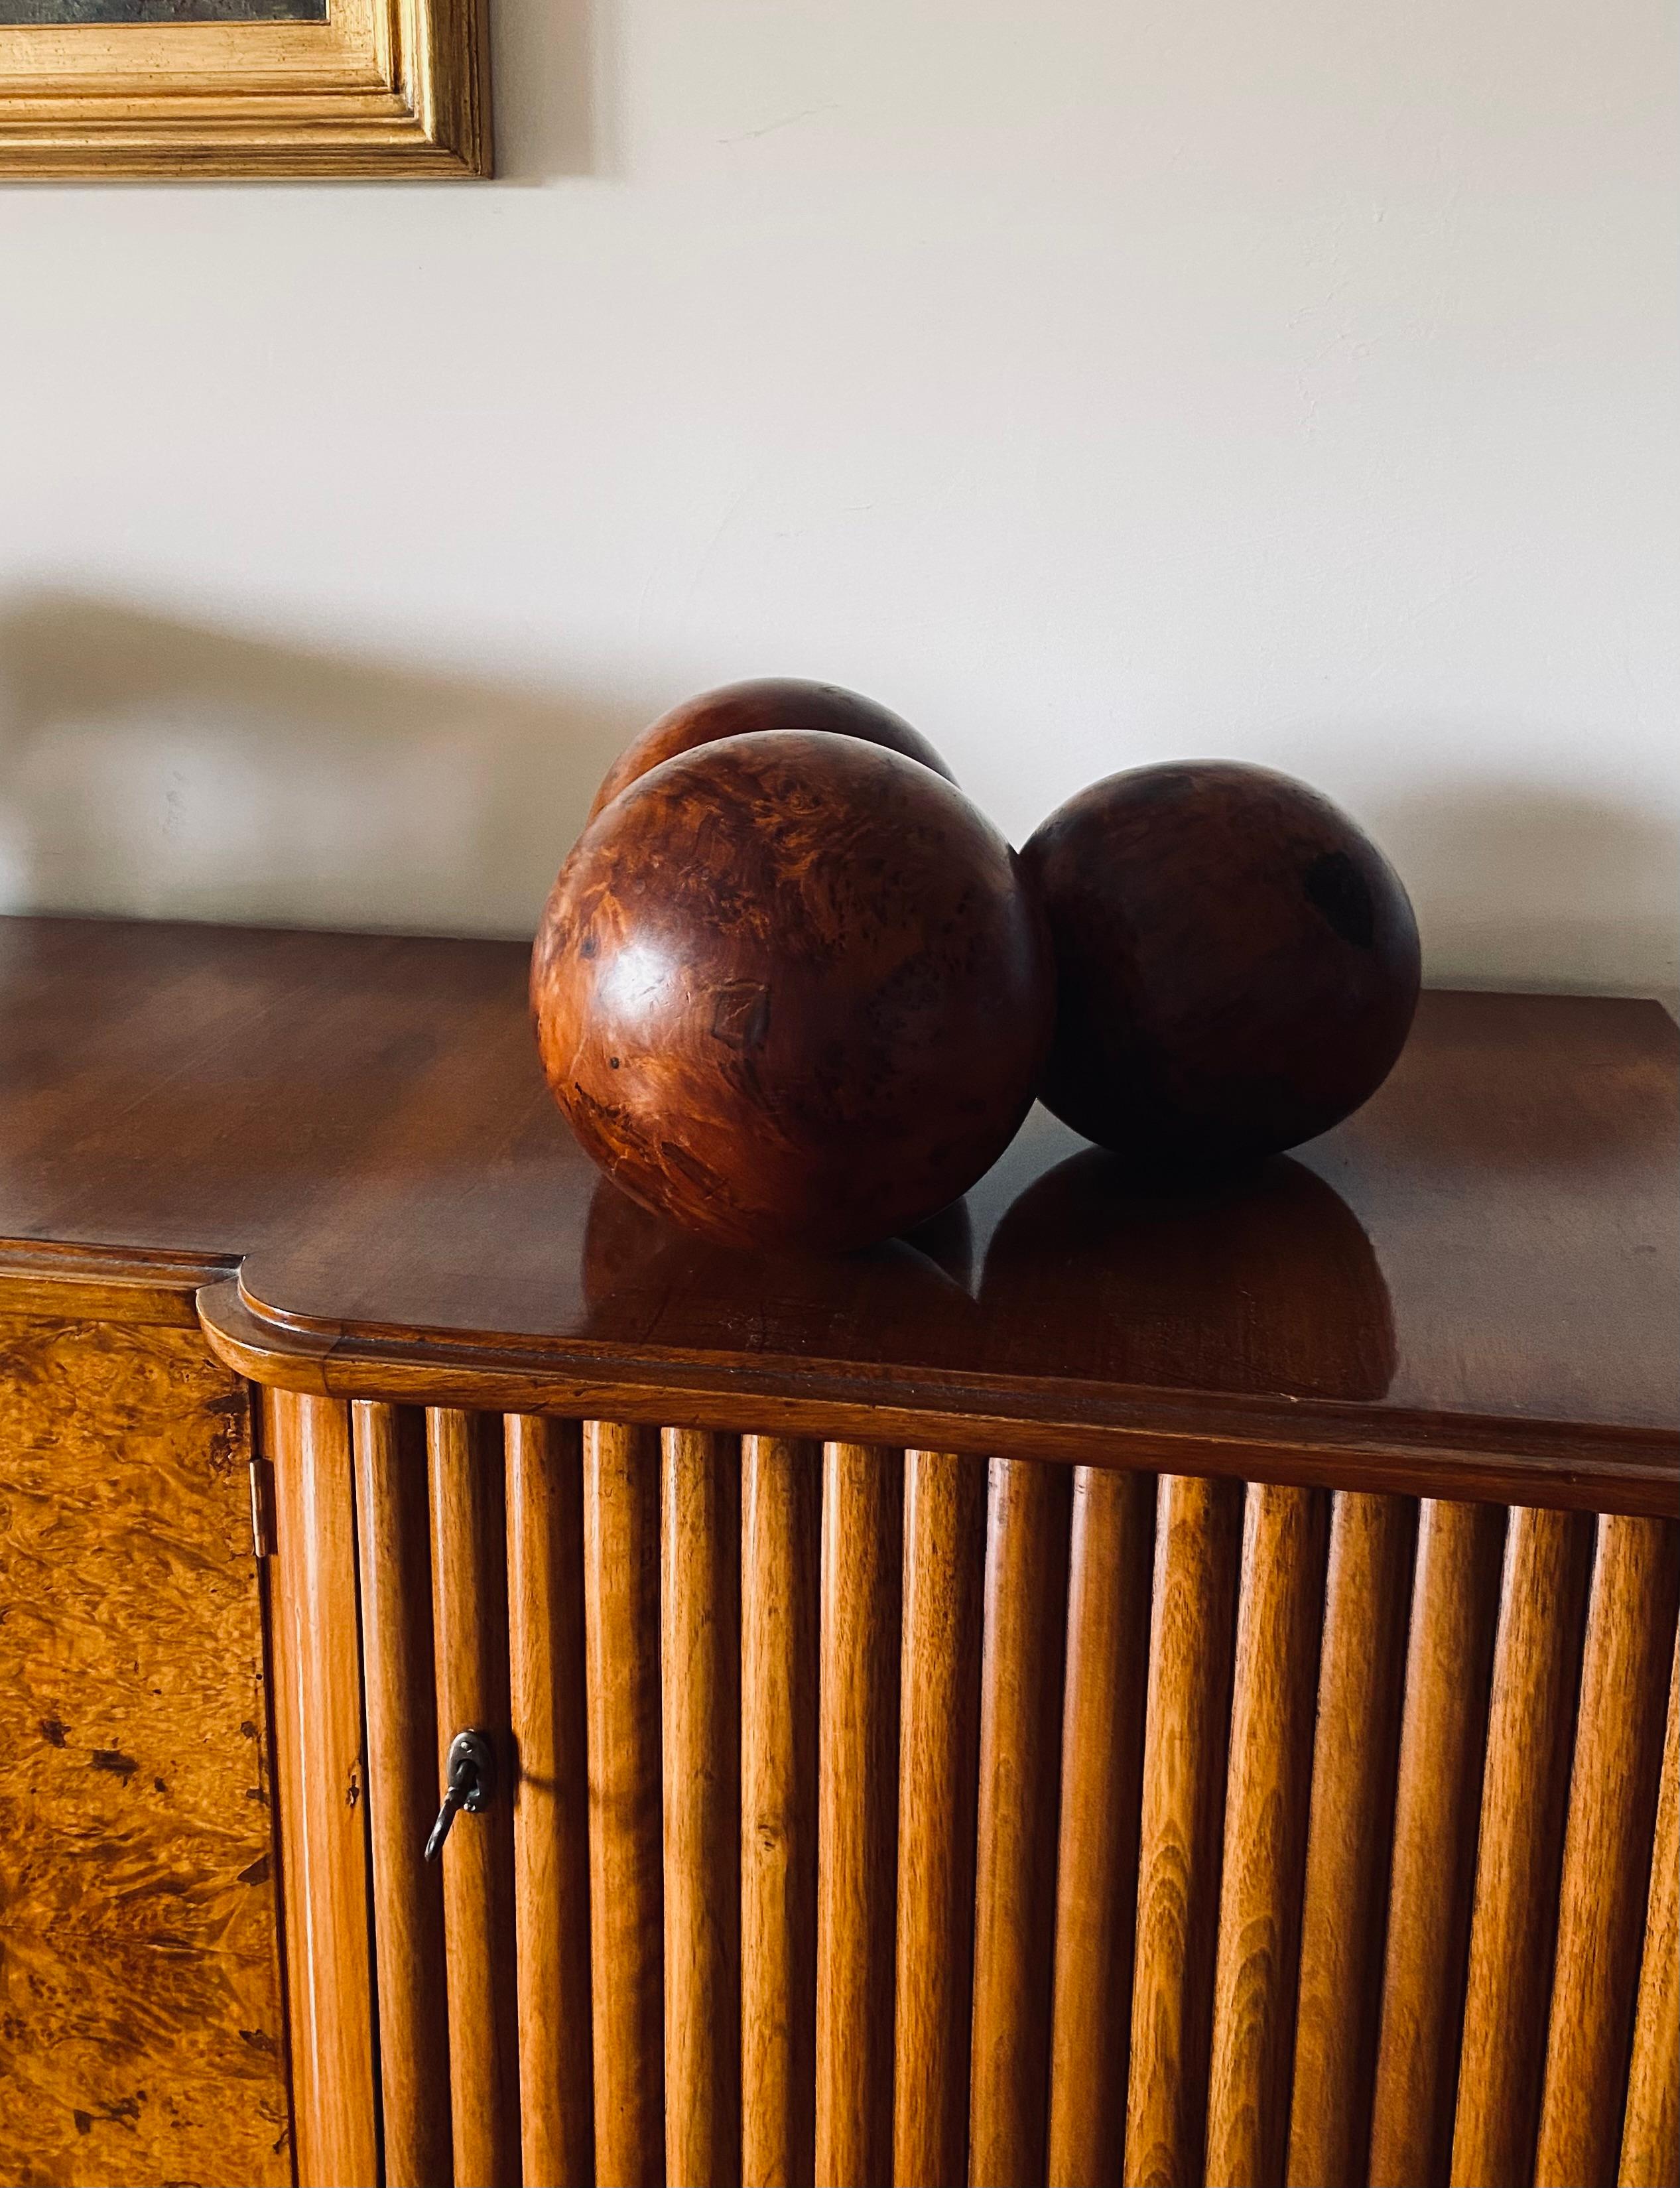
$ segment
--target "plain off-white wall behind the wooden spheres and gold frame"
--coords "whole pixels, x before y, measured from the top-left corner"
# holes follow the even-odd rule
[[[1669,0],[501,0],[494,186],[0,188],[0,904],[529,923],[737,674],[1676,982]]]

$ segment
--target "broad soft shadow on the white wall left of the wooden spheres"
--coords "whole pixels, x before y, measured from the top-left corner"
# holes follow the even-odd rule
[[[0,608],[0,910],[529,934],[639,726],[37,595]]]

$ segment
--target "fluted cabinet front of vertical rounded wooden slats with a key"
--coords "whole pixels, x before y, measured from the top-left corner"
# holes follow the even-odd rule
[[[1673,1523],[265,1422],[300,2188],[1673,2184]]]

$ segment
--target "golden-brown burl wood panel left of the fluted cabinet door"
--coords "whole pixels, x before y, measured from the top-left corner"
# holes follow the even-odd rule
[[[0,1319],[0,2179],[291,2179],[243,1387]]]

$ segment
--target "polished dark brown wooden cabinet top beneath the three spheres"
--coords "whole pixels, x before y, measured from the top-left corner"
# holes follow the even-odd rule
[[[665,1230],[549,1101],[518,943],[0,919],[0,1267],[151,1273],[291,1387],[1671,1510],[1656,1004],[1431,993],[1393,1076],[1164,1199],[1032,1112],[910,1241]],[[954,1440],[954,1442],[949,1442]]]

